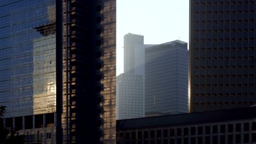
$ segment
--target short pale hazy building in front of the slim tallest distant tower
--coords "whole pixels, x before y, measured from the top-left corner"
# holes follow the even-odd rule
[[[117,119],[144,117],[143,81],[141,75],[117,76]]]

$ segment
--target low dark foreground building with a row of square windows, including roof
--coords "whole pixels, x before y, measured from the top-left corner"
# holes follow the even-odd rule
[[[117,121],[117,144],[256,143],[256,107]]]

